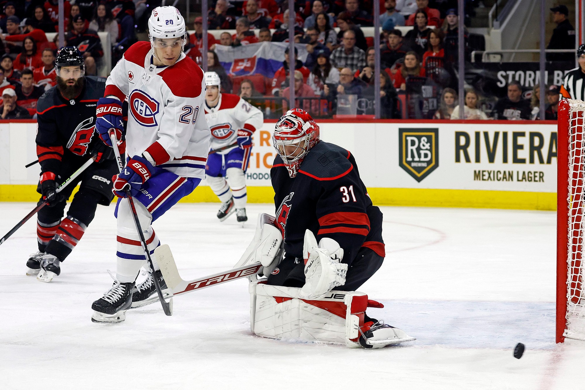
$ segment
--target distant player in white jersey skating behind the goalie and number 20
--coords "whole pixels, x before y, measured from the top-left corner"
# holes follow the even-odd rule
[[[246,216],[246,169],[252,152],[252,134],[264,123],[262,111],[238,95],[219,92],[219,76],[205,72],[205,119],[211,129],[211,149],[205,179],[222,201],[220,221],[236,211],[238,222]]]

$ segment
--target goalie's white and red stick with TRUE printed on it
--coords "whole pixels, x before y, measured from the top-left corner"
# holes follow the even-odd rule
[[[167,282],[167,287],[171,290],[173,295],[181,295],[195,290],[204,289],[209,286],[229,282],[230,280],[253,276],[259,273],[262,269],[262,264],[256,262],[230,269],[227,272],[214,273],[214,275],[209,275],[205,278],[183,280],[179,275],[173,254],[168,245],[160,245],[160,247],[154,249],[154,254],[159,263],[160,271],[163,273],[164,280]]]

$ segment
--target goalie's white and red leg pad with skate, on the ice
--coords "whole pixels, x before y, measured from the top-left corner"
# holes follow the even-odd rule
[[[250,282],[250,329],[261,337],[381,348],[415,340],[403,330],[364,324],[367,307],[383,307],[357,291],[330,291],[318,300],[300,299],[300,288]],[[375,304],[375,305],[374,305]]]

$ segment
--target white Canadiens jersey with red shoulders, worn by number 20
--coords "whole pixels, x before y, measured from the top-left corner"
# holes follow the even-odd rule
[[[173,66],[153,64],[150,42],[137,42],[112,69],[104,96],[128,99],[126,153],[150,153],[178,176],[205,176],[209,127],[203,71],[184,53]]]

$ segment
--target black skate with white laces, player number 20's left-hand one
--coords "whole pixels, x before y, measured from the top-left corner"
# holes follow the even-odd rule
[[[126,310],[132,305],[134,283],[120,283],[114,279],[112,288],[91,305],[92,322],[115,323],[126,319]]]

